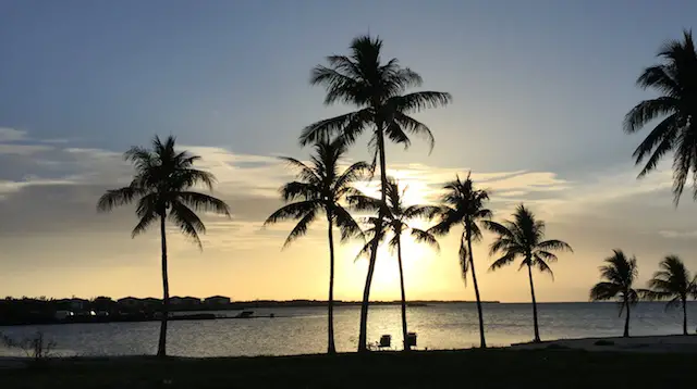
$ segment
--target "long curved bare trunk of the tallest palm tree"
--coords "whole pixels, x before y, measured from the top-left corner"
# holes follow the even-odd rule
[[[384,161],[384,137],[382,134],[382,124],[377,125],[378,133],[378,152],[380,156],[380,200],[382,204],[387,203],[387,193],[384,188],[388,186],[387,163]],[[366,275],[366,285],[363,289],[363,302],[360,304],[360,328],[358,332],[358,352],[368,351],[368,305],[370,303],[370,286],[372,284],[372,274],[375,273],[375,263],[378,255],[378,244],[382,235],[382,219],[384,218],[384,208],[378,211],[378,222],[376,223],[376,236],[372,247],[370,248],[370,260],[368,262],[368,274]]]

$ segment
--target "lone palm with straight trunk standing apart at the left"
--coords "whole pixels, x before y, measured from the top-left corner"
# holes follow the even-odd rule
[[[182,234],[203,249],[199,234],[206,233],[204,222],[194,211],[215,212],[230,216],[228,204],[215,197],[193,191],[203,184],[212,191],[215,176],[193,167],[198,155],[174,150],[174,137],[164,142],[152,139],[152,148],[132,147],[124,159],[133,163],[135,176],[127,187],[108,190],[97,203],[99,212],[137,201],[139,221],[132,236],[140,235],[156,221],[160,222],[162,243],[162,322],[157,348],[158,356],[167,355],[167,319],[169,316],[170,288],[167,265],[166,221],[174,223]]]

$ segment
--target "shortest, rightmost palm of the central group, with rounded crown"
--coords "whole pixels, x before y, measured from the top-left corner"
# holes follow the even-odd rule
[[[530,296],[533,298],[533,321],[535,325],[535,341],[540,341],[540,332],[537,324],[537,302],[535,300],[535,285],[533,284],[533,267],[537,267],[542,273],[548,273],[554,277],[548,262],[557,262],[558,258],[551,251],[570,251],[571,246],[557,239],[545,239],[545,222],[535,218],[535,214],[525,205],[521,204],[515,209],[513,221],[505,221],[503,224],[484,221],[484,225],[497,234],[498,237],[491,243],[490,255],[501,253],[502,256],[491,264],[489,271],[496,271],[509,265],[516,258],[522,258],[521,267],[527,266],[527,274],[530,280]]]

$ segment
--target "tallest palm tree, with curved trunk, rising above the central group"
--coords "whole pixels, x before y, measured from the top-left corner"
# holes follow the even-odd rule
[[[421,77],[408,67],[400,66],[396,59],[382,62],[382,40],[370,36],[353,39],[348,55],[330,55],[328,66],[318,65],[313,70],[310,83],[321,85],[327,90],[325,104],[337,102],[357,108],[337,117],[313,123],[303,129],[301,145],[315,143],[331,135],[341,135],[347,142],[354,142],[360,134],[371,131],[370,146],[375,147],[375,158],[380,163],[380,184],[388,186],[384,138],[404,147],[411,141],[408,135],[425,137],[433,147],[433,136],[425,124],[409,116],[411,113],[427,108],[445,105],[451,101],[450,93],[419,91],[405,93],[411,87],[421,85]],[[375,163],[374,158],[374,163]],[[382,192],[382,202],[387,202]],[[384,214],[378,217],[378,234],[382,234]],[[376,239],[374,244],[378,244]],[[360,332],[358,351],[367,351],[367,324],[370,285],[375,272],[377,246],[370,250],[368,274],[360,305]]]

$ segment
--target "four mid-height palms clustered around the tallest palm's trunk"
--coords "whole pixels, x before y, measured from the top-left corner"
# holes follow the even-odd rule
[[[387,242],[396,254],[402,308],[402,337],[404,350],[409,349],[406,323],[406,293],[404,272],[402,265],[402,239],[405,235],[417,242],[425,242],[439,249],[437,236],[444,236],[451,229],[461,227],[458,259],[464,279],[472,274],[479,317],[480,344],[486,347],[481,298],[475,273],[473,241],[481,239],[479,225],[497,235],[491,244],[491,255],[500,254],[490,269],[508,265],[516,259],[522,259],[521,267],[528,269],[530,293],[533,298],[535,340],[539,341],[537,323],[537,304],[533,283],[533,268],[552,274],[548,263],[555,262],[555,250],[568,250],[571,247],[560,240],[545,240],[545,223],[536,219],[525,205],[521,204],[513,221],[496,223],[491,221],[492,212],[486,208],[489,193],[484,189],[476,189],[469,174],[467,178],[448,183],[443,187],[440,204],[406,204],[404,202],[406,187],[391,177],[380,189],[386,201],[381,198],[366,196],[356,189],[356,184],[368,179],[371,166],[366,162],[350,165],[343,172],[341,159],[346,151],[346,143],[338,137],[332,140],[320,140],[315,145],[315,154],[310,163],[305,164],[296,159],[283,158],[296,172],[297,179],[285,184],[281,188],[281,196],[286,204],[273,212],[265,225],[286,219],[298,221],[285,240],[288,246],[296,238],[305,235],[317,216],[327,216],[327,231],[329,241],[329,298],[328,298],[328,347],[329,353],[335,352],[333,339],[333,277],[334,277],[334,243],[333,229],[339,228],[342,240],[358,238],[364,246],[358,256],[372,258],[374,250],[380,243]],[[354,217],[350,211],[360,216]],[[419,229],[409,225],[414,219],[436,219],[436,224],[428,229]],[[365,226],[362,228],[360,226]],[[360,344],[359,344],[359,350]]]

